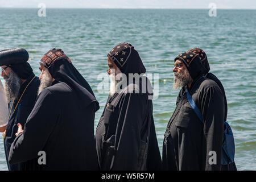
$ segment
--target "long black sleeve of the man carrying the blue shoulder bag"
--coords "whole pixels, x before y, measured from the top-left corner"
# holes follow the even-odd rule
[[[203,162],[202,169],[206,171],[221,169],[222,138],[224,133],[224,101],[221,90],[216,87],[208,87],[203,92],[201,110],[203,111]],[[212,156],[216,152],[216,164]]]

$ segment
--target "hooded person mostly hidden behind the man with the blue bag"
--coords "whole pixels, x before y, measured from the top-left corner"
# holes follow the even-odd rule
[[[217,76],[213,75],[213,73],[209,73],[210,65],[209,65],[209,62],[207,59],[207,54],[205,53],[205,51],[203,51],[203,49],[200,49],[199,47],[190,49],[189,51],[195,52],[199,55],[200,60],[202,61],[202,64],[205,68],[204,76],[206,78],[209,78],[210,80],[215,81],[216,84],[218,85],[218,87],[221,89],[221,92],[224,97],[224,121],[226,121],[226,118],[228,116],[228,103],[226,101],[226,94],[225,94],[224,86],[221,84],[221,81],[218,80]],[[179,103],[179,100],[180,100],[181,96],[183,95],[183,93],[185,92],[185,90],[186,90],[186,86],[183,86],[183,88],[181,88],[181,90],[179,92],[179,96],[177,97],[176,104]],[[225,129],[225,127],[224,127],[224,129]],[[237,167],[234,162],[227,164],[227,165],[221,165],[221,169],[222,169],[222,171],[237,171]]]

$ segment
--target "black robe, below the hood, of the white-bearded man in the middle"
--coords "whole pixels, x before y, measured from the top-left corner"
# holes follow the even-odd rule
[[[95,138],[101,170],[161,168],[148,94],[121,92],[109,96]]]

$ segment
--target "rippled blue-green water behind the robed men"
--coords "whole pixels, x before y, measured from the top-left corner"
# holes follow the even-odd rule
[[[159,73],[159,97],[154,119],[162,152],[163,134],[175,109],[172,90],[174,57],[193,47],[207,52],[211,72],[224,85],[228,122],[236,142],[239,170],[256,170],[256,10],[105,10],[0,9],[0,49],[22,47],[39,75],[39,60],[51,48],[61,48],[92,86],[101,109],[108,94],[97,80],[108,68],[106,55],[115,44],[130,42],[140,53],[147,73]],[[0,169],[6,170],[0,140]]]

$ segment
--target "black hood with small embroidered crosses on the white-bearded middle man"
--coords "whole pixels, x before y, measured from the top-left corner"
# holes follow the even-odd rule
[[[128,75],[129,73],[146,73],[139,53],[129,43],[119,43],[108,53],[110,60],[114,61],[120,71]]]

